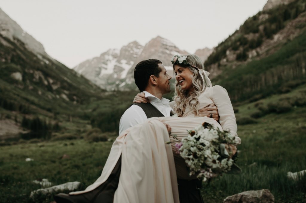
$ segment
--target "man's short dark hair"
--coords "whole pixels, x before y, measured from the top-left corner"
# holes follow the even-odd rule
[[[159,73],[162,69],[159,68],[159,64],[162,63],[157,59],[148,59],[140,61],[134,69],[135,84],[138,89],[142,92],[146,89],[149,83],[151,75],[159,77]]]

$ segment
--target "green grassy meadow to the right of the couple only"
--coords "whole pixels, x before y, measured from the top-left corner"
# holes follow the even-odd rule
[[[264,105],[281,98],[297,98],[306,86],[294,91],[237,107],[237,120],[256,111],[256,103]],[[242,143],[238,147],[240,175],[224,175],[204,184],[204,202],[222,202],[227,196],[247,190],[268,189],[275,202],[306,202],[306,176],[295,182],[287,172],[306,169],[306,108],[293,106],[286,113],[271,113],[258,123],[238,125]]]

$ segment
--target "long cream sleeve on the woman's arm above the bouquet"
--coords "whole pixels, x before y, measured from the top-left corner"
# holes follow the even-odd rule
[[[230,133],[237,136],[236,117],[226,89],[219,85],[214,86],[211,99],[218,108],[223,130],[229,130]]]

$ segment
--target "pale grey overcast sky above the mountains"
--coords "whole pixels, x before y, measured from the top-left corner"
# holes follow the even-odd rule
[[[72,68],[109,48],[157,35],[181,50],[217,46],[267,0],[0,0],[46,52]]]

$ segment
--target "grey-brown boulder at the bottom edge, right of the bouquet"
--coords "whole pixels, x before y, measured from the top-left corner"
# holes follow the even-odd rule
[[[239,194],[228,196],[224,199],[223,203],[273,203],[274,196],[269,190],[257,190],[257,191],[244,191]]]

